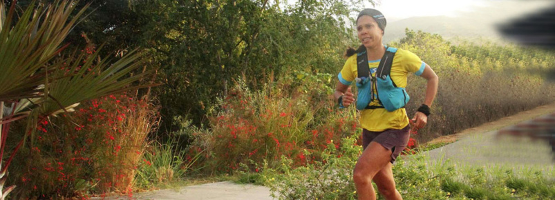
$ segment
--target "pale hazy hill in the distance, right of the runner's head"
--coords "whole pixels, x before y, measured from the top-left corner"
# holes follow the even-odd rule
[[[411,17],[388,22],[384,43],[398,41],[405,36],[405,28],[440,34],[444,39],[485,38],[505,41],[497,26],[511,20],[539,12],[541,8],[552,8],[553,1],[489,1],[489,6],[476,7],[469,12],[460,12],[459,17]]]

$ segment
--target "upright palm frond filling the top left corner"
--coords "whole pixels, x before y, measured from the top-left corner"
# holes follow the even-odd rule
[[[41,97],[36,88],[49,72],[44,65],[63,50],[62,41],[86,9],[69,20],[75,3],[57,1],[54,6],[33,10],[34,4],[15,20],[15,3],[6,15],[0,2],[0,101]]]

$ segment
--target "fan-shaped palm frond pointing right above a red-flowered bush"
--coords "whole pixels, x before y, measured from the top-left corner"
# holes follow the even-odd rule
[[[97,51],[100,52],[100,49]],[[130,83],[138,81],[152,71],[129,76],[129,73],[142,66],[142,54],[133,50],[109,66],[108,59],[95,61],[97,52],[88,55],[86,52],[74,53],[68,59],[73,61],[64,70],[55,70],[54,79],[47,85],[48,97],[41,103],[41,108],[36,111],[41,116],[57,114],[82,101],[104,97],[108,94],[144,88],[145,86],[128,87]],[[62,63],[59,61],[58,63]],[[84,61],[84,62],[83,62]],[[71,73],[68,75],[68,73]],[[35,110],[34,110],[35,111]]]

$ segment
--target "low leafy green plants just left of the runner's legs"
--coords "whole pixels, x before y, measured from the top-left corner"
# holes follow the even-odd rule
[[[321,160],[294,168],[293,161],[281,157],[281,166],[265,169],[265,184],[279,199],[356,199],[352,168],[361,152],[357,140],[345,137],[341,148],[331,144],[321,152]]]

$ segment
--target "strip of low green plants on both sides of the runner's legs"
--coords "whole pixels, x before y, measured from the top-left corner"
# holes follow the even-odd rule
[[[350,137],[345,140],[354,141]],[[300,168],[288,165],[290,159],[284,157],[281,167],[266,169],[259,176],[279,199],[355,199],[351,174],[360,147],[348,143],[343,142],[346,146],[340,150],[329,148],[323,153],[343,152],[342,157],[326,157]],[[511,166],[456,167],[449,160],[433,163],[422,154],[399,157],[393,166],[397,190],[404,199],[549,199],[555,192],[552,172],[529,174]]]

